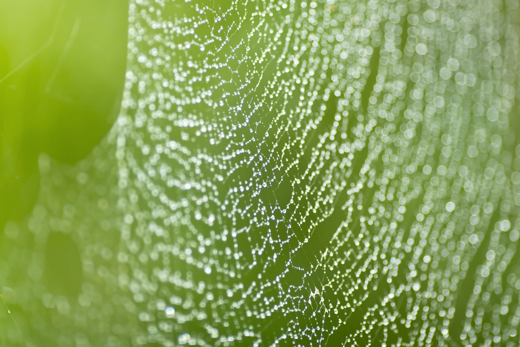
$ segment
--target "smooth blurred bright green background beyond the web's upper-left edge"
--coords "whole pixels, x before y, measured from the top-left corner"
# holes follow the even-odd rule
[[[73,164],[109,130],[123,90],[127,6],[0,0],[1,226],[32,209],[42,151]]]

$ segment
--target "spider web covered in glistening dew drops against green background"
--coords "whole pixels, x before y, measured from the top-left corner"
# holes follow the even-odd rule
[[[131,1],[118,121],[74,168],[42,155],[33,214],[6,224],[25,341],[518,345],[519,18]],[[74,295],[45,279],[56,235]]]

